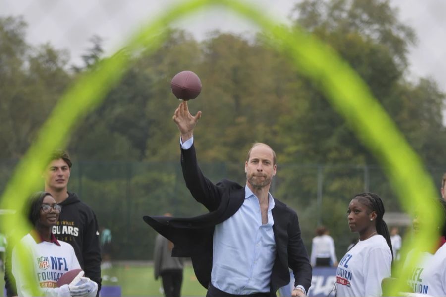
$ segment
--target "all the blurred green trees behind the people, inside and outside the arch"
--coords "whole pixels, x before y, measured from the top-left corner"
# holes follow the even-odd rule
[[[430,79],[406,79],[407,50],[415,36],[389,2],[305,0],[293,13],[295,24],[328,43],[359,73],[425,163],[440,167],[432,170],[439,179],[446,166],[445,95]],[[48,44],[34,48],[25,31],[21,18],[0,18],[1,159],[19,159],[66,86],[103,58],[102,41],[94,37],[84,65],[71,73],[65,51]],[[70,190],[111,229],[115,258],[151,258],[155,234],[143,215],[205,212],[184,186],[179,133],[171,122],[178,101],[169,82],[182,70],[196,72],[203,83],[201,95],[189,104],[193,113],[203,111],[195,131],[203,171],[215,182],[228,177],[244,183],[250,144],[269,143],[279,164],[273,195],[297,210],[307,247],[322,223],[330,226],[341,255],[351,236],[345,209],[355,193],[369,189],[384,198],[387,211],[400,210],[394,189],[351,125],[319,86],[266,47],[265,39],[214,32],[198,42],[187,32],[169,30],[150,56],[144,49],[135,54],[137,62],[104,103],[78,123],[68,147],[78,160]],[[1,180],[8,177],[8,166],[0,169]]]

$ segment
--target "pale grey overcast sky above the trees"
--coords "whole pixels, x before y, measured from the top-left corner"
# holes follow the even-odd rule
[[[143,22],[150,20],[179,0],[0,0],[0,15],[23,15],[29,24],[27,40],[32,44],[50,42],[68,49],[72,61],[90,46],[94,34],[104,39],[106,53],[123,41]],[[287,22],[297,0],[245,0],[281,22]],[[446,91],[446,0],[391,0],[399,8],[399,18],[413,27],[418,44],[410,48],[410,77],[432,77]],[[205,10],[176,26],[194,33],[198,39],[210,30],[248,32],[248,22],[222,9]]]

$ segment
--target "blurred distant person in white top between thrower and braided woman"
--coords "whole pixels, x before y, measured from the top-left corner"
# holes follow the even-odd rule
[[[316,228],[317,236],[313,238],[311,246],[310,263],[313,267],[337,266],[335,254],[335,241],[329,235],[326,227]]]

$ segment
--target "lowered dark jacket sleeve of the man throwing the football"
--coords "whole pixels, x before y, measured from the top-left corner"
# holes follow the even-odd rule
[[[294,212],[290,217],[288,228],[288,265],[294,273],[294,286],[302,285],[308,292],[313,269],[308,259],[307,249],[300,237],[299,220]]]

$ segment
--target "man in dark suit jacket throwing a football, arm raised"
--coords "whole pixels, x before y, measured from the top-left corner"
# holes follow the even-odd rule
[[[312,268],[300,236],[297,214],[269,193],[276,154],[256,143],[245,162],[246,186],[223,180],[214,185],[201,172],[193,145],[198,119],[187,103],[173,120],[181,132],[181,166],[192,196],[208,210],[194,218],[145,216],[174,244],[172,256],[191,257],[207,296],[275,296],[295,276],[292,296],[305,296]]]

